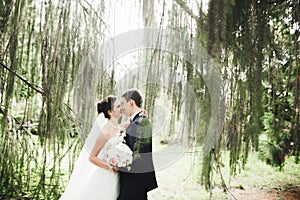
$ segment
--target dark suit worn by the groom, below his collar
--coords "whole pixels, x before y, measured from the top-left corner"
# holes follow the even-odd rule
[[[157,188],[152,161],[152,128],[148,118],[136,115],[126,130],[126,144],[134,152],[131,169],[120,169],[120,196],[146,194]]]

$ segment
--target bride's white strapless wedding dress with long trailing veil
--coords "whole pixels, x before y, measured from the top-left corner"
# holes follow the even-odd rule
[[[119,195],[119,176],[118,173],[97,167],[92,164],[89,152],[96,141],[101,128],[106,124],[107,119],[101,113],[91,129],[85,141],[74,170],[70,177],[68,186],[60,197],[60,200],[116,200]],[[101,133],[100,133],[101,134]],[[109,139],[98,158],[103,159],[105,147],[116,137]]]

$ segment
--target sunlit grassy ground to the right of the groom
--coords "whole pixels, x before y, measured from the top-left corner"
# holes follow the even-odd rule
[[[201,156],[187,153],[157,170],[159,188],[149,193],[149,200],[300,200],[300,165],[293,162],[294,158],[287,158],[279,171],[252,153],[245,168],[229,176],[227,155],[223,156],[221,173],[230,192],[223,191],[220,174],[215,171],[210,195],[200,184]]]

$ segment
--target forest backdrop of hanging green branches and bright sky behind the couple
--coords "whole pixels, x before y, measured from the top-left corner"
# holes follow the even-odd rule
[[[131,87],[145,95],[155,151],[194,155],[210,193],[213,174],[228,164],[234,177],[253,152],[299,167],[299,10],[297,0],[1,0],[0,198],[58,199],[95,103]],[[127,47],[153,34],[139,30],[154,39]]]

